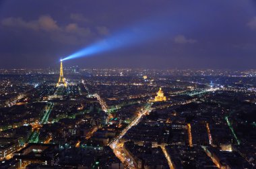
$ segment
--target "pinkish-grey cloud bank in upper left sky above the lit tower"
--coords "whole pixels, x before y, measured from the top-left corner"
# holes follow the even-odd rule
[[[90,38],[92,32],[90,27],[81,27],[77,23],[68,23],[67,25],[58,25],[50,15],[41,15],[36,20],[25,21],[21,17],[7,17],[1,21],[5,27],[15,29],[32,30],[35,32],[44,31],[54,42],[62,44],[83,44],[84,38]]]

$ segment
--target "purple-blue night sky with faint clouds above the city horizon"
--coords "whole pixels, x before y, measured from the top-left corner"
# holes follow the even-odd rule
[[[63,64],[256,68],[254,0],[0,0],[0,68],[58,67],[98,41],[122,41],[120,32],[135,43]]]

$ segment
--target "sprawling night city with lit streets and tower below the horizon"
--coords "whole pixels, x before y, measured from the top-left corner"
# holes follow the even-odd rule
[[[255,76],[1,70],[1,168],[253,168]]]

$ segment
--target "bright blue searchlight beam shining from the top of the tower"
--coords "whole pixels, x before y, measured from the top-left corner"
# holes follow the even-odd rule
[[[167,21],[166,21],[167,20]],[[171,36],[173,27],[166,18],[155,18],[152,21],[139,23],[133,27],[128,27],[121,32],[117,32],[113,36],[108,36],[104,40],[100,40],[90,46],[71,54],[62,60],[70,60],[73,58],[81,58],[100,54],[119,48],[135,46],[157,40],[163,36]]]

